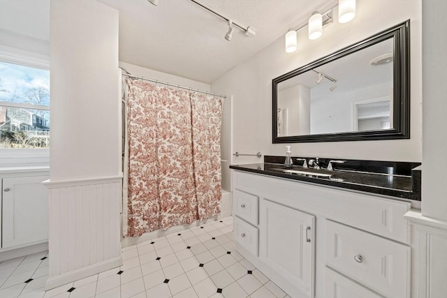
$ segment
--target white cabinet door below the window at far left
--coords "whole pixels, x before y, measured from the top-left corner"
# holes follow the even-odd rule
[[[2,248],[48,239],[46,176],[3,179]]]

